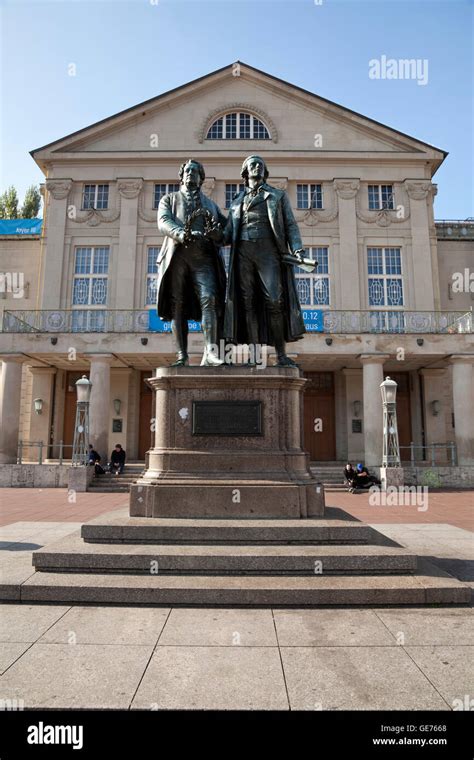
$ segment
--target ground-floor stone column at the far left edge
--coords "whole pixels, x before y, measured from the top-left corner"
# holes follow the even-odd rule
[[[16,464],[20,429],[21,354],[4,354],[0,371],[0,464]]]

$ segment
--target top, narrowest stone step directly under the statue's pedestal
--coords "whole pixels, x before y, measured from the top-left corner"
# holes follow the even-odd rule
[[[309,519],[187,519],[127,517],[116,510],[82,526],[89,543],[147,544],[364,544],[374,531],[343,510],[326,510],[331,517]]]

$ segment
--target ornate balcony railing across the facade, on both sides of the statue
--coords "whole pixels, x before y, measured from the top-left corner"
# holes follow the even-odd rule
[[[308,333],[473,332],[472,311],[330,311],[302,309]],[[169,323],[168,323],[169,324]],[[5,310],[4,333],[149,333],[149,310]]]

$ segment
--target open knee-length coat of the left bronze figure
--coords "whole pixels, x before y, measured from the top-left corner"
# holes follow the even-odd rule
[[[222,226],[226,225],[226,218],[221,213],[219,206],[208,198],[204,193],[201,193],[201,204],[204,209],[211,212],[216,222]],[[186,221],[186,201],[184,194],[178,190],[175,193],[167,193],[164,195],[158,206],[158,229],[165,235],[163,245],[156,263],[158,264],[158,281],[157,281],[157,312],[161,319],[172,319],[171,313],[171,288],[169,284],[171,267],[173,265],[173,254],[180,243],[177,237],[180,232],[184,230]],[[224,308],[224,297],[226,288],[226,275],[224,262],[220,254],[219,245],[209,242],[213,247],[216,257],[216,268],[218,276],[219,293],[217,294],[218,300],[221,303],[218,306],[218,310]],[[199,321],[201,319],[201,306],[194,292],[194,288],[190,284],[185,293],[185,319],[192,319]]]

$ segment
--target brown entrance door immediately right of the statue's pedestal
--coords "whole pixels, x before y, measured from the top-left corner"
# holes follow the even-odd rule
[[[305,372],[308,380],[304,391],[304,448],[311,461],[330,462],[336,459],[336,420],[334,407],[334,374]]]

